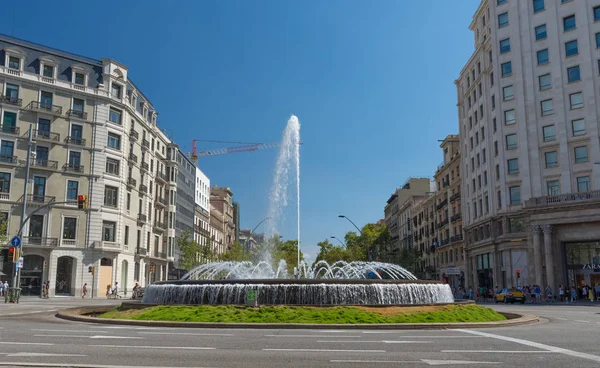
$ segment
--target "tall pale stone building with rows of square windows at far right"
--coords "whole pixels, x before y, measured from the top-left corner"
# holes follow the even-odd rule
[[[600,282],[600,0],[484,0],[470,29],[456,81],[468,277]]]

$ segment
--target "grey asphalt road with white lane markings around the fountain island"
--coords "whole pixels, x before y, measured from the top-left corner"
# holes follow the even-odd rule
[[[54,317],[54,310],[82,303],[91,304],[31,299],[0,305],[0,366],[600,366],[595,306],[494,305],[544,319],[520,327],[445,331],[152,328]]]

